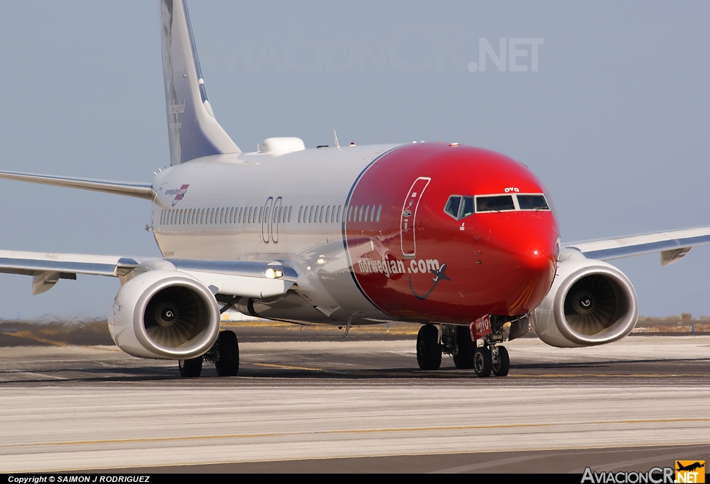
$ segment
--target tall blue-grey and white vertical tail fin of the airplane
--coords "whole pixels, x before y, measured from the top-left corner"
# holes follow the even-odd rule
[[[185,0],[159,1],[170,165],[201,156],[241,153],[214,119],[207,101]]]

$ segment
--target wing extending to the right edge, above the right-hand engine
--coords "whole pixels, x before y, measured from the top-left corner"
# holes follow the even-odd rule
[[[682,259],[693,246],[707,243],[710,243],[710,226],[609,238],[604,241],[569,243],[564,244],[564,248],[579,251],[586,258],[598,260],[660,252],[661,265],[670,265]]]

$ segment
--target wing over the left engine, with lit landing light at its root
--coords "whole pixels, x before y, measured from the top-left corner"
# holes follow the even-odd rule
[[[33,276],[33,294],[50,290],[60,279],[76,279],[77,274],[119,277],[125,282],[131,274],[146,270],[180,270],[200,280],[215,295],[256,299],[285,294],[298,277],[290,266],[269,260],[188,260],[0,251],[0,273]]]

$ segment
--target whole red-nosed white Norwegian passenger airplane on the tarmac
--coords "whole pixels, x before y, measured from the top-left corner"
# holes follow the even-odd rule
[[[305,148],[267,138],[242,152],[215,119],[186,0],[160,4],[170,167],[150,183],[0,172],[0,178],[151,202],[162,257],[0,251],[32,292],[81,275],[121,282],[109,331],[121,350],[239,372],[229,309],[295,324],[420,324],[417,363],[442,353],[479,377],[506,376],[504,341],[528,331],[558,347],[618,341],[638,319],[608,260],[710,243],[710,226],[562,243],[550,194],[506,155],[445,143]],[[317,178],[318,183],[308,180]],[[432,277],[433,275],[433,277]]]

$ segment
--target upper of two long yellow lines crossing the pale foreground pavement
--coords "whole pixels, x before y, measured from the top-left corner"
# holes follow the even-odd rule
[[[37,442],[34,444],[9,444],[2,447],[34,447],[34,446],[80,446],[95,444],[131,444],[138,442],[170,442],[191,440],[219,440],[219,439],[260,439],[264,437],[299,436],[299,435],[337,435],[337,434],[377,434],[393,432],[424,432],[424,431],[452,431],[452,430],[489,430],[489,429],[532,429],[542,427],[559,427],[567,425],[610,425],[610,424],[678,424],[682,422],[697,423],[710,422],[710,418],[692,419],[629,419],[629,420],[600,420],[596,422],[555,422],[547,424],[489,424],[489,425],[452,425],[442,427],[394,427],[385,429],[342,429],[324,431],[295,431],[295,432],[269,432],[263,434],[226,434],[226,435],[197,435],[175,437],[146,437],[138,439],[105,439],[70,442]]]

